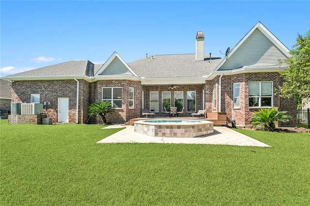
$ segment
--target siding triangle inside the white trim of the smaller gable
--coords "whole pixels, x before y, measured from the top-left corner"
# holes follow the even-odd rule
[[[115,57],[100,75],[133,75],[123,62]]]

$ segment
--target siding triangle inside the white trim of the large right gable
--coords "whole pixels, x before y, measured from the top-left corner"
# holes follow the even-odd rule
[[[279,59],[286,58],[259,29],[255,29],[218,70],[233,70],[250,65],[260,65],[260,68],[262,65],[279,66]],[[282,63],[281,66],[285,65]]]

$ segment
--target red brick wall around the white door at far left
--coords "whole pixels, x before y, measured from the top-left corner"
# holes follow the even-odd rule
[[[79,123],[87,120],[90,83],[79,81]],[[76,123],[77,117],[77,82],[75,80],[40,80],[12,82],[12,103],[30,103],[31,94],[40,94],[40,103],[44,106],[44,113],[53,122],[58,122],[58,98],[69,98],[69,123]],[[48,102],[50,104],[48,104]],[[46,109],[45,109],[46,108]]]

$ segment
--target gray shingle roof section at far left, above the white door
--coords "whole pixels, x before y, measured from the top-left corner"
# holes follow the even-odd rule
[[[88,60],[73,60],[60,64],[54,64],[39,69],[30,70],[8,77],[20,76],[67,76],[67,75],[89,75],[93,76],[93,63]]]

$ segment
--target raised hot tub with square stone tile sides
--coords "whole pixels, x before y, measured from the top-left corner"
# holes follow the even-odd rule
[[[155,137],[197,137],[213,133],[206,120],[157,119],[135,121],[135,132]]]

